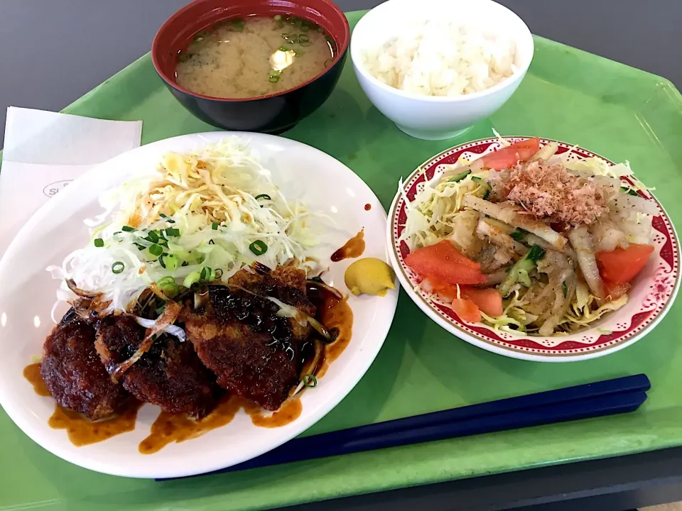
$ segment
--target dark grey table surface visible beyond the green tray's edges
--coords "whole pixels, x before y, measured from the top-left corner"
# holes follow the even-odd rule
[[[475,0],[472,0],[475,1]],[[531,31],[682,87],[678,0],[499,0]],[[148,51],[186,0],[0,0],[0,112],[58,111]],[[345,11],[381,0],[337,0]],[[418,0],[415,0],[418,5]],[[0,123],[0,137],[4,121]],[[455,481],[308,510],[622,511],[682,499],[682,449]]]

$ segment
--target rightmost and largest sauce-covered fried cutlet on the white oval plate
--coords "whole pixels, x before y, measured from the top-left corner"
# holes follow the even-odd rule
[[[283,266],[265,275],[241,270],[228,284],[211,285],[205,306],[183,313],[188,340],[222,388],[277,410],[298,384],[301,348],[311,329],[278,317],[280,307],[266,297],[313,316],[305,273]]]

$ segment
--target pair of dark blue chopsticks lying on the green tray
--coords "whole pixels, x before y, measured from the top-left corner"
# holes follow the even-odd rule
[[[212,473],[633,412],[650,388],[649,378],[639,374],[342,429],[293,439]]]

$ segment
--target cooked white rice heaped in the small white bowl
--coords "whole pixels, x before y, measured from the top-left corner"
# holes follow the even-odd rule
[[[443,21],[415,23],[364,53],[373,77],[412,94],[460,96],[510,77],[514,41],[471,26]]]

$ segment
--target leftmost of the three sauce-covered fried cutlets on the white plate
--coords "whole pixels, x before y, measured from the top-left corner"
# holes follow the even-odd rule
[[[99,361],[94,328],[72,310],[45,340],[40,375],[55,401],[92,420],[121,412],[131,402]]]

